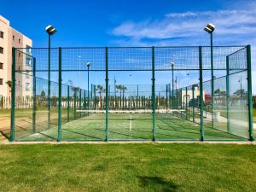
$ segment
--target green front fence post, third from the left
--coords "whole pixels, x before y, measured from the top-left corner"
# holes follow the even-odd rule
[[[108,142],[108,47],[105,49],[106,60],[106,141]]]

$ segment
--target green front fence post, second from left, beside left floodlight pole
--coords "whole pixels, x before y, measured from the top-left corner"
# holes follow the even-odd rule
[[[61,81],[62,81],[62,77],[61,77],[61,48],[59,48],[59,105],[58,105],[58,139],[57,142],[61,142],[61,101],[62,101],[62,92],[61,92]]]

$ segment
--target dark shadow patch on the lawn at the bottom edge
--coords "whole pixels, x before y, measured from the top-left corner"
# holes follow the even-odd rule
[[[166,181],[163,177],[148,177],[141,176],[138,177],[143,187],[150,187],[154,191],[159,192],[172,192],[177,191],[177,184],[172,181]]]

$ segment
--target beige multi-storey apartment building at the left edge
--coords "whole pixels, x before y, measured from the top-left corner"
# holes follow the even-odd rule
[[[10,96],[12,69],[12,47],[26,48],[26,54],[31,54],[32,40],[10,26],[9,20],[0,15],[0,96]],[[16,54],[20,67],[27,75],[16,73],[16,96],[31,96],[32,78],[31,58],[26,54]]]

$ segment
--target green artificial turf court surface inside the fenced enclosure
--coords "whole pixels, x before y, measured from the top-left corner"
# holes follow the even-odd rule
[[[153,139],[153,119],[150,113],[110,113],[108,115],[108,140],[127,141]],[[65,117],[63,118],[65,121]],[[105,141],[106,114],[91,113],[70,122],[62,123],[62,141]],[[67,120],[66,120],[67,121]],[[41,125],[47,123],[42,122]],[[37,124],[38,127],[39,124]],[[57,121],[53,119],[50,129],[31,129],[17,131],[17,141],[51,141],[58,135]],[[168,113],[156,114],[156,140],[200,140],[200,125],[180,119]],[[246,140],[225,131],[205,126],[206,140]]]

